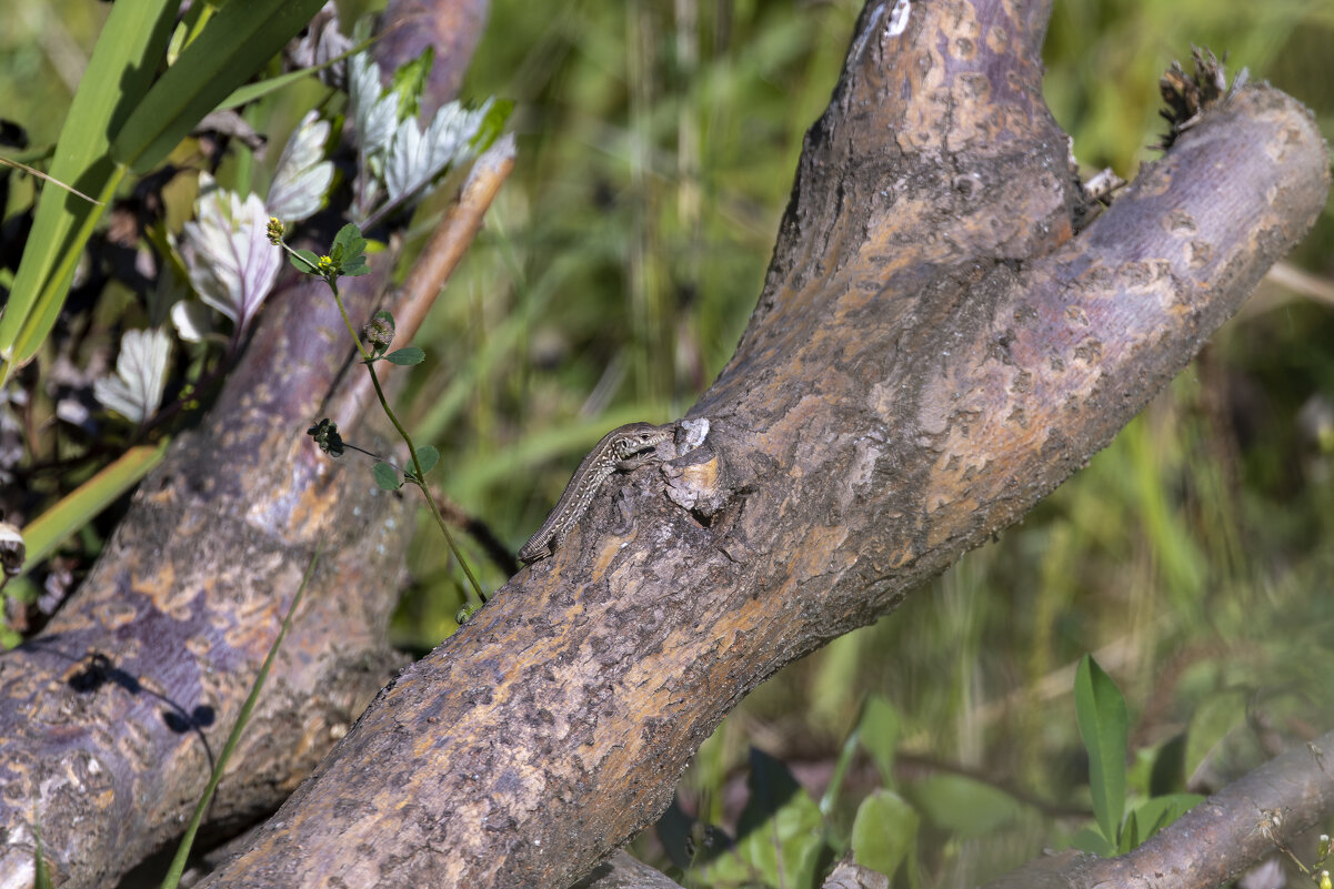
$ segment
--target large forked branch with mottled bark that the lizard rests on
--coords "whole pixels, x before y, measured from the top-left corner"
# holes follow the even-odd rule
[[[1314,221],[1323,144],[1242,89],[1073,237],[1047,12],[868,4],[670,458],[384,689],[207,885],[568,885],[750,689],[1022,516],[1189,361]]]

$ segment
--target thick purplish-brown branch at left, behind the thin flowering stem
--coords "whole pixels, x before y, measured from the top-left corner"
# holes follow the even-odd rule
[[[440,20],[472,24],[451,37],[471,52],[486,3],[436,5]],[[420,52],[390,43],[378,45],[390,71],[411,59],[395,48]],[[436,71],[460,64],[454,56]],[[452,89],[459,76],[432,88]],[[452,96],[432,88],[430,108]],[[484,209],[478,200],[451,213],[455,235],[475,232]],[[332,231],[320,237],[323,248]],[[392,267],[390,251],[372,275],[344,281],[354,315],[370,316]],[[386,628],[408,504],[304,435],[364,376],[346,336],[323,281],[271,296],[207,421],[172,443],[49,626],[0,657],[0,886],[32,882],[35,813],[64,886],[108,885],[179,836],[319,544],[313,589],[208,829],[233,832],[272,812],[402,665]]]

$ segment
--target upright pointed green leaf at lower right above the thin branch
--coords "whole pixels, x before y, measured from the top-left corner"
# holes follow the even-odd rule
[[[1089,788],[1103,837],[1117,845],[1126,812],[1126,746],[1130,717],[1126,698],[1093,657],[1085,654],[1075,670],[1075,716],[1089,750]]]

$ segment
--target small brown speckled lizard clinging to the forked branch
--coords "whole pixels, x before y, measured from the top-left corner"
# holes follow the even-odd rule
[[[550,556],[588,512],[588,505],[592,504],[602,484],[614,472],[628,472],[651,460],[651,452],[672,435],[674,428],[674,424],[655,427],[651,423],[627,423],[603,436],[598,446],[590,450],[575,469],[575,474],[547,520],[542,522],[542,528],[519,550],[519,558],[531,564]]]

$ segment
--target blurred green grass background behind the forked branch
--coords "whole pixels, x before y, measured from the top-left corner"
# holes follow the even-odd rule
[[[446,493],[511,548],[603,432],[680,416],[730,356],[802,135],[828,100],[859,9],[492,4],[464,96],[516,104],[519,164],[418,339],[428,360],[402,405],[416,440],[440,448]],[[0,0],[3,116],[35,143],[57,133],[101,15],[84,1]],[[1110,165],[1130,179],[1155,156],[1158,77],[1174,59],[1189,69],[1191,44],[1297,96],[1334,135],[1334,4],[1061,1],[1046,93],[1086,173]],[[275,108],[269,131],[281,139],[300,108]],[[419,211],[418,244],[440,205]],[[687,773],[682,809],[734,829],[750,745],[818,797],[876,696],[899,718],[896,789],[923,813],[914,873],[926,885],[975,885],[1086,822],[1070,814],[1089,808],[1070,700],[1086,652],[1127,697],[1134,768],[1166,769],[1185,749],[1177,784],[1207,790],[1279,741],[1329,728],[1329,209],[1289,263],[1314,280],[1290,269],[1267,280],[1022,524],[752,694]],[[395,622],[408,649],[451,633],[462,601],[458,566],[419,526]],[[500,585],[503,572],[467,545],[486,585]],[[938,805],[932,781],[960,773],[1033,800],[958,824],[951,810],[990,812],[982,797]],[[858,768],[844,782],[844,809],[876,786]],[[700,824],[691,830],[703,836]],[[666,854],[652,837],[639,845]],[[698,868],[683,878],[714,885]]]

